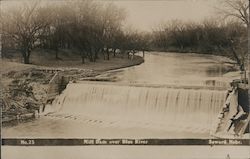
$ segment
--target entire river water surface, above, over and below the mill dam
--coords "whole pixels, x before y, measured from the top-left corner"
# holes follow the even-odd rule
[[[4,128],[3,137],[206,138],[230,77],[226,58],[147,54],[145,63],[76,82],[38,120]],[[211,83],[211,81],[213,81]]]

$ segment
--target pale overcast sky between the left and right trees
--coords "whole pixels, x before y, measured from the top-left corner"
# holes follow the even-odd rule
[[[161,22],[175,19],[203,21],[215,16],[218,0],[113,0],[127,10],[129,25],[149,31]]]

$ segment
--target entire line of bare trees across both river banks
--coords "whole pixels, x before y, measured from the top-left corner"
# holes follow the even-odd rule
[[[112,3],[90,0],[57,5],[33,2],[1,14],[2,46],[15,48],[30,63],[35,48],[50,49],[60,59],[59,49],[75,49],[82,63],[87,59],[125,55],[138,51],[196,52],[228,56],[245,70],[249,3],[222,0],[218,9],[224,19],[201,23],[174,20],[149,33],[125,27],[126,12]]]

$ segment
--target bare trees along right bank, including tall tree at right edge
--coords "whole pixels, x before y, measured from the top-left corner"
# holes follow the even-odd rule
[[[221,0],[217,17],[202,23],[174,20],[152,32],[151,48],[163,51],[196,52],[230,57],[241,71],[248,64],[250,41],[249,2]]]

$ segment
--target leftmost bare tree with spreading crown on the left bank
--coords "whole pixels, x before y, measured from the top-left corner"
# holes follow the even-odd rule
[[[39,36],[49,25],[50,16],[47,9],[39,6],[36,1],[3,13],[1,19],[3,33],[16,42],[25,64],[30,63],[31,51],[39,45]]]

